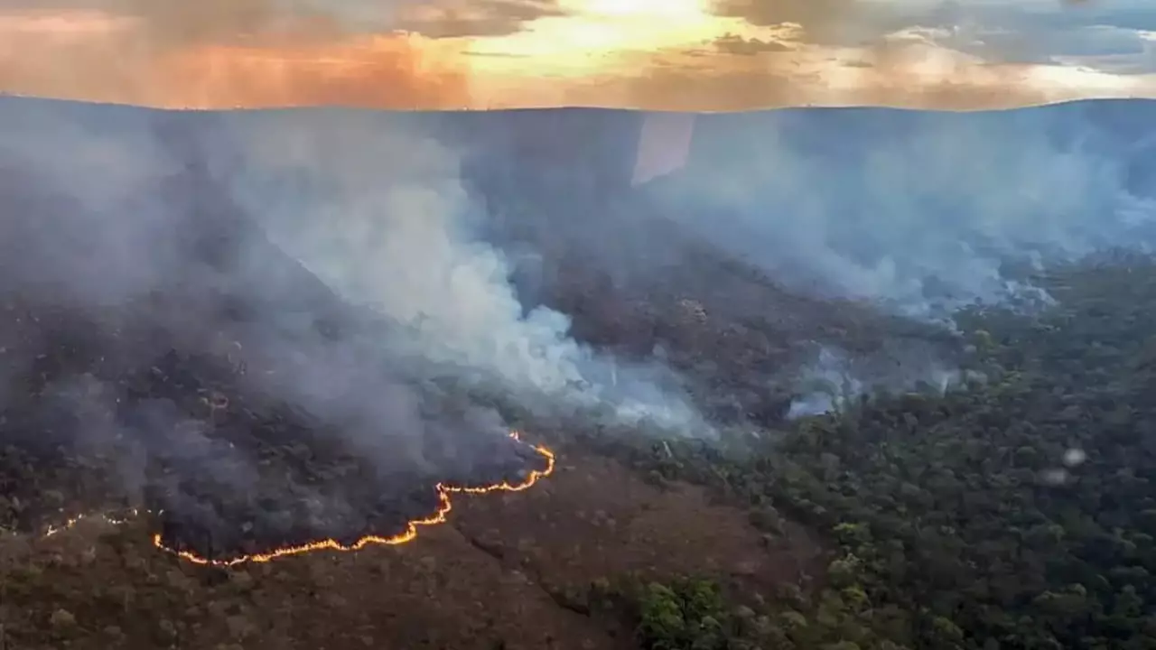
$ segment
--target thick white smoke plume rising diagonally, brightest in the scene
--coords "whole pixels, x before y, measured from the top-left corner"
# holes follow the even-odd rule
[[[616,423],[704,424],[659,369],[622,367],[569,335],[569,318],[524,310],[504,254],[474,234],[454,152],[402,116],[238,116],[244,162],[229,180],[271,238],[350,301],[403,327],[390,341],[499,384],[529,406],[609,409]],[[542,398],[546,398],[544,400]]]

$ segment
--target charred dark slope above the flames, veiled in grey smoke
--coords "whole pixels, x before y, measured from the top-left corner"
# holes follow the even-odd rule
[[[439,483],[518,483],[543,468],[487,409],[391,374],[379,324],[355,320],[214,198],[203,171],[158,189],[171,212],[149,241],[177,272],[108,295],[91,293],[119,261],[91,252],[103,215],[37,178],[3,179],[6,525],[140,509],[157,514],[168,546],[228,557],[392,537],[437,511]],[[242,246],[246,263],[280,269],[282,293],[244,282]],[[320,396],[297,382],[318,369]],[[375,391],[398,422],[373,421],[354,390]]]

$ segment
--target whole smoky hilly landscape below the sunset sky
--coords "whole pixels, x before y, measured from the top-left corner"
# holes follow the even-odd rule
[[[6,99],[0,648],[1149,648],[1156,269],[1125,209],[1144,208],[1147,158],[1121,154],[1149,110],[701,117],[687,165],[631,189],[637,113]],[[926,133],[946,148],[911,145]],[[756,147],[772,135],[773,164]],[[996,170],[1011,185],[1096,172],[1055,204],[1062,227],[1028,228],[1075,194],[949,173],[1015,147],[1030,155]],[[928,169],[910,200],[883,200],[898,176],[872,176],[880,149]],[[766,180],[783,165],[790,183]],[[808,169],[827,176],[808,186]],[[729,176],[748,189],[714,191]],[[799,236],[806,254],[746,254],[727,215],[750,250]],[[899,264],[953,220],[970,248]],[[1139,252],[1082,257],[1124,244]],[[885,258],[903,258],[895,282],[839,283]],[[902,316],[947,289],[1006,297],[963,272],[1048,301],[956,310],[954,332]],[[575,341],[528,316],[541,305]],[[820,350],[892,392],[788,418]],[[610,353],[623,377],[673,370],[718,438],[524,379]],[[933,385],[941,370],[961,383]],[[616,399],[617,375],[603,387]],[[502,481],[527,489],[443,489]],[[406,544],[222,568],[151,542],[221,561],[349,545],[405,532],[439,494],[447,522]],[[45,537],[102,511],[126,520]]]

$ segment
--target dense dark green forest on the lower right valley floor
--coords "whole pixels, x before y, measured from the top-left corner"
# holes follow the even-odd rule
[[[724,451],[620,448],[749,504],[769,533],[787,516],[837,542],[822,584],[758,618],[710,582],[650,585],[644,645],[1156,648],[1156,263],[1037,281],[1057,298],[1039,317],[958,316],[984,382],[865,397]]]

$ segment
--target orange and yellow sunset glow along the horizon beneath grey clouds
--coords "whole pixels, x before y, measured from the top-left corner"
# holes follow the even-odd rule
[[[409,3],[409,17],[421,20],[397,31],[380,12],[364,19],[372,25],[354,25],[296,20],[301,12],[284,7],[258,19],[210,9],[193,12],[200,22],[185,29],[184,14],[165,7],[195,2],[92,0],[83,2],[89,9],[30,9],[18,7],[40,3],[15,0],[15,8],[0,9],[0,93],[199,109],[707,111],[801,104],[968,110],[1156,96],[1156,74],[1096,69],[1088,57],[1043,65],[987,60],[919,28],[894,32],[883,50],[813,43],[795,23],[761,27],[717,15],[718,0],[550,0],[536,19],[527,13],[524,22],[498,23],[487,22],[494,9],[487,3],[446,1],[461,10]],[[129,6],[134,10],[124,10]],[[244,31],[246,20],[261,29]],[[484,29],[470,31],[470,24]],[[1151,32],[1140,36],[1156,42]]]

